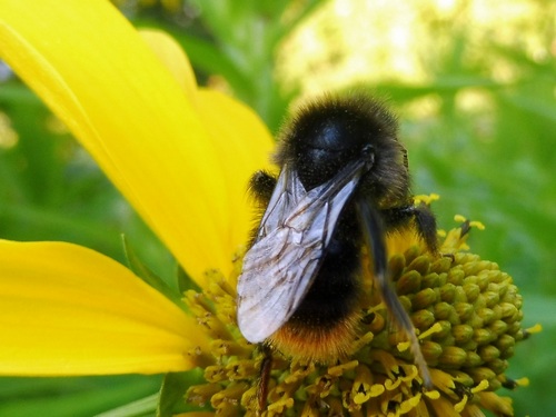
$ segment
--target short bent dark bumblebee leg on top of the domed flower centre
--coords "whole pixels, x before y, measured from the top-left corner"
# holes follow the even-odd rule
[[[418,206],[407,205],[381,210],[380,214],[386,224],[387,230],[395,230],[407,226],[411,219],[415,221],[417,234],[427,245],[431,254],[438,251],[438,238],[436,236],[436,218],[427,205],[421,202]]]

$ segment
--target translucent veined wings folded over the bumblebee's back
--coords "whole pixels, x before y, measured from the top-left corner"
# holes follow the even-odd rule
[[[365,166],[353,162],[309,192],[282,168],[238,279],[238,325],[247,340],[265,340],[299,307]]]

